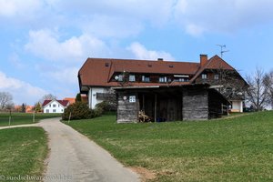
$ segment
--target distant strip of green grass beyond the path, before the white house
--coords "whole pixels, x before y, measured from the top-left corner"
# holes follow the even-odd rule
[[[41,119],[51,118],[61,116],[61,114],[45,114],[37,113],[35,114],[35,122],[38,122]],[[12,113],[11,125],[22,125],[22,124],[31,124],[33,123],[33,114],[32,113]],[[0,126],[9,125],[9,113],[0,113]]]

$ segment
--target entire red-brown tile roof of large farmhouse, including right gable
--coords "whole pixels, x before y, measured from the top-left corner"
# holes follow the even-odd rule
[[[213,56],[205,66],[200,63],[170,62],[133,59],[109,59],[109,58],[87,58],[86,63],[78,72],[79,85],[81,86],[120,86],[117,82],[109,82],[115,73],[126,71],[138,74],[172,74],[194,76],[190,82],[172,82],[170,85],[187,85],[192,83],[205,69],[230,69],[227,62],[219,56]],[[130,83],[133,86],[163,86],[160,83]]]

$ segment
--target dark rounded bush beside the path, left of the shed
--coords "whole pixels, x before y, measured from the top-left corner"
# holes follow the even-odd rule
[[[96,116],[101,116],[101,109],[90,109],[86,103],[76,102],[73,105],[67,106],[64,114],[62,115],[63,120],[68,120],[71,113],[70,120],[76,119],[90,119]]]

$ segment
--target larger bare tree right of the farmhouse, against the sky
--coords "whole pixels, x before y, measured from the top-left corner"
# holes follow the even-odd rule
[[[248,81],[248,102],[258,111],[263,110],[268,104],[268,84],[263,69],[256,68],[252,76],[247,76]]]

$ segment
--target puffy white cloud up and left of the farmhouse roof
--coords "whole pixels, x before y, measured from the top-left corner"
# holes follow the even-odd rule
[[[60,41],[58,33],[50,30],[30,31],[25,50],[47,60],[66,63],[82,61],[88,56],[102,56],[108,52],[105,43],[92,35],[72,36]]]

